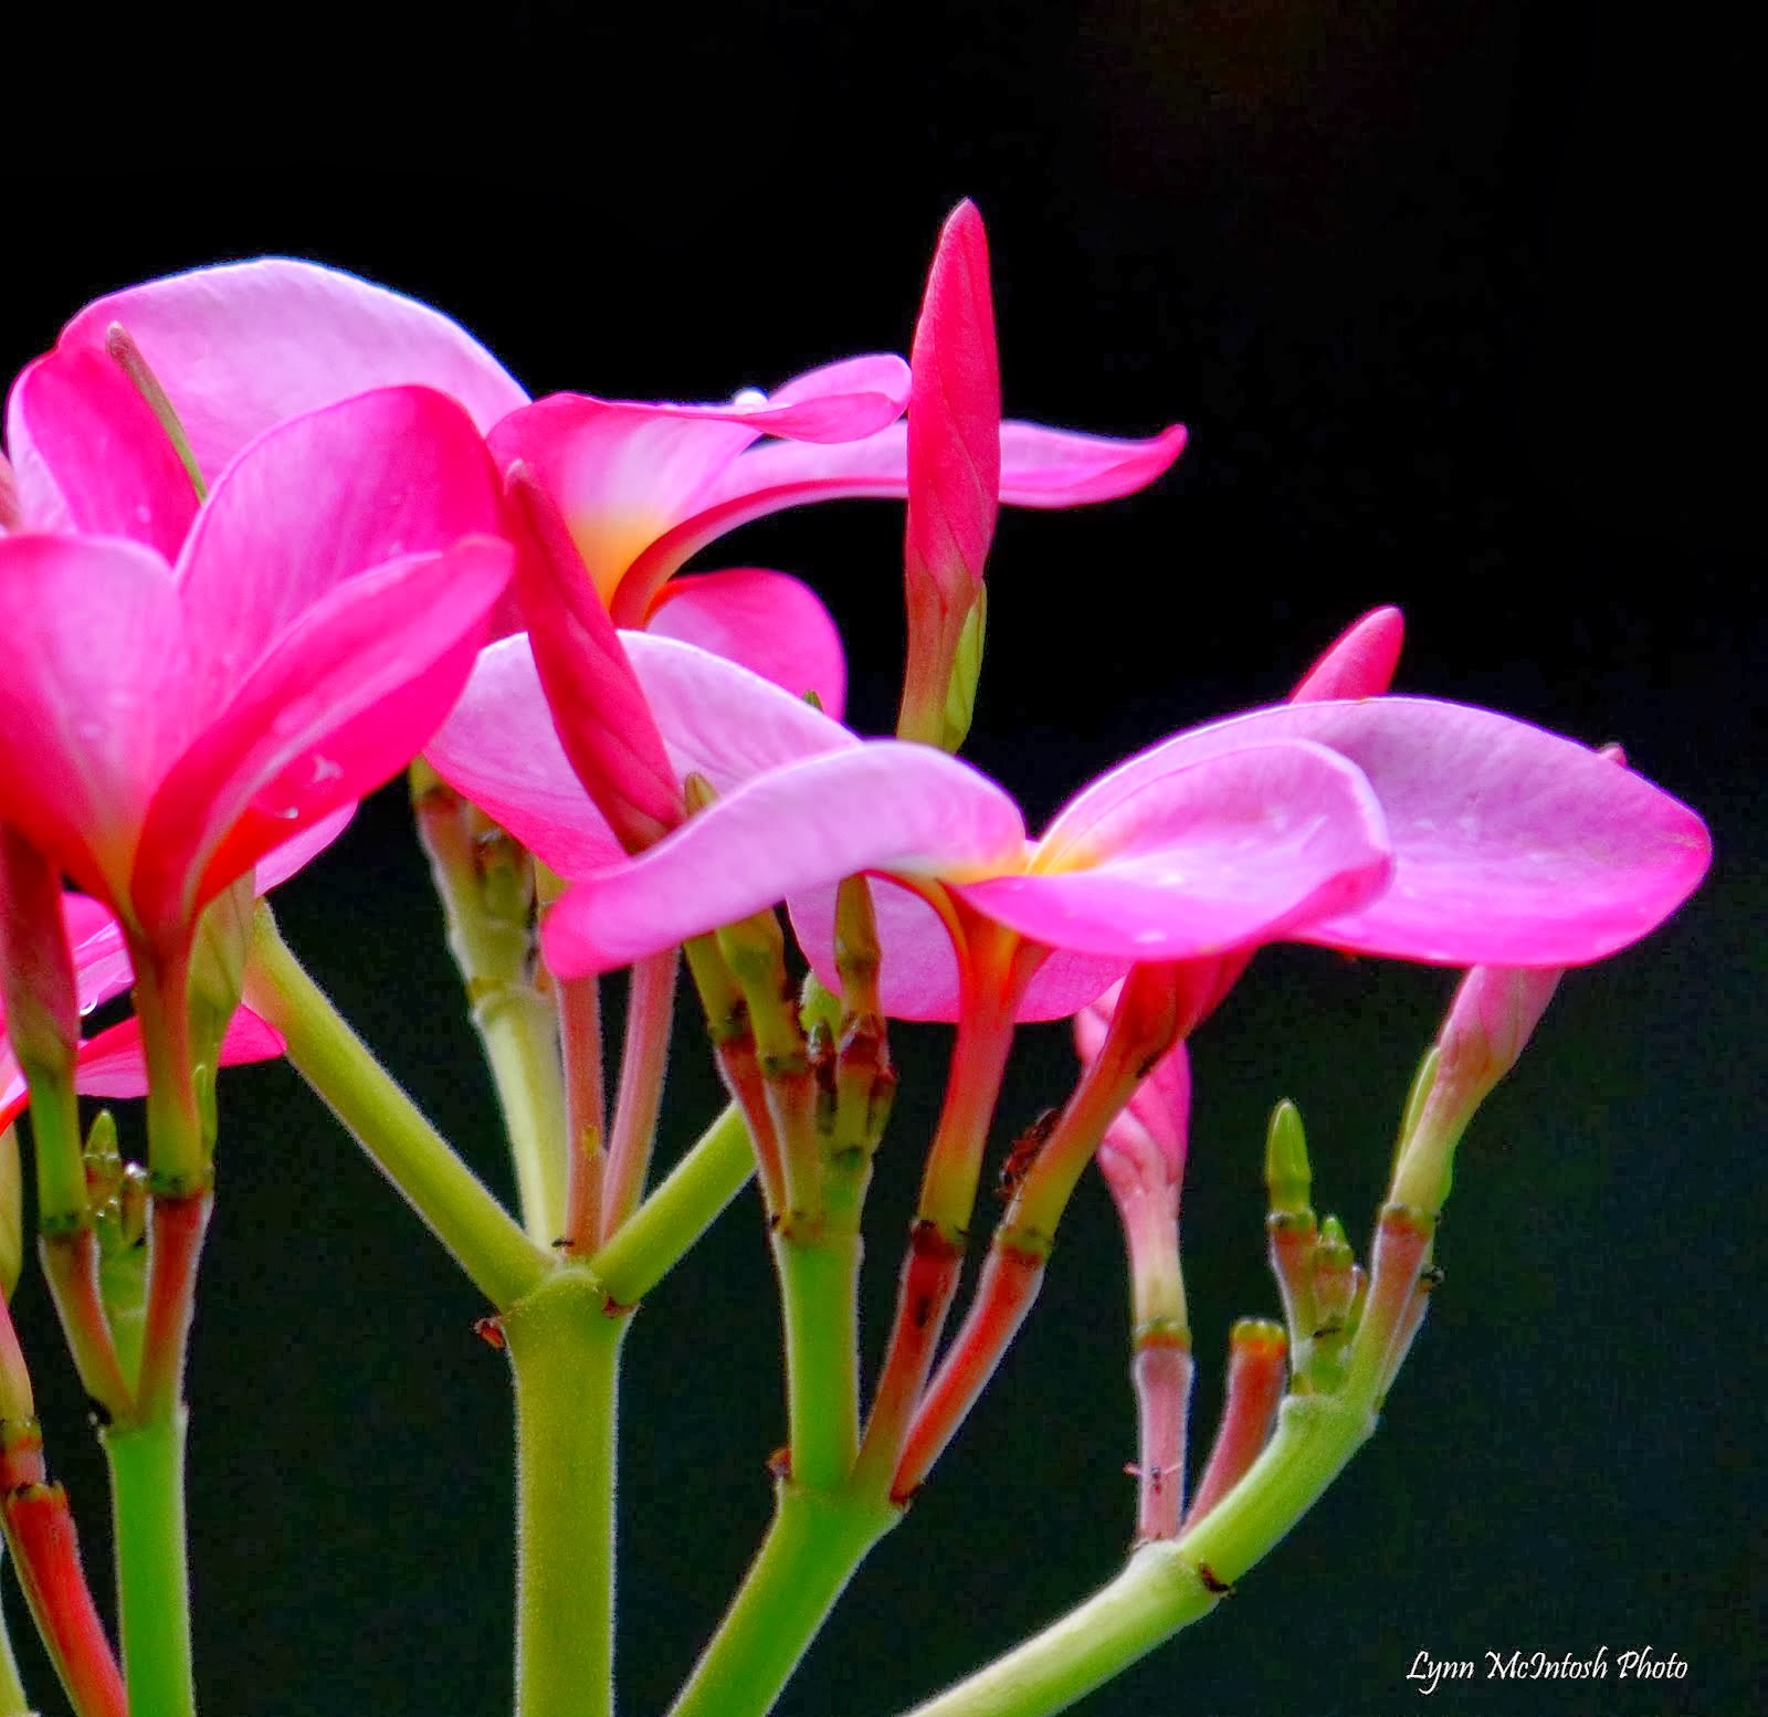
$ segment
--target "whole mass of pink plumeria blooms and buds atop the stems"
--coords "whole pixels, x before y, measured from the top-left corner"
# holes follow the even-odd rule
[[[787,902],[834,985],[834,891],[859,874],[882,884],[884,1011],[909,1019],[985,992],[1066,1017],[1146,964],[1218,997],[1278,939],[1563,967],[1676,909],[1701,820],[1572,739],[1384,695],[1391,612],[1294,702],[1163,739],[1040,838],[925,743],[974,691],[997,506],[1126,495],[1183,444],[1001,419],[969,205],[912,364],[723,405],[530,403],[437,311],[311,263],[150,281],[83,309],[7,403],[0,824],[83,891],[81,948],[115,935],[168,981],[210,900],[286,875],[419,753],[569,882],[560,976]],[[746,520],[852,495],[907,502],[900,737],[842,725],[804,584],[679,576]],[[713,792],[693,815],[690,775]],[[1025,957],[1001,935],[983,957],[979,921]],[[106,960],[88,997],[122,983]]]

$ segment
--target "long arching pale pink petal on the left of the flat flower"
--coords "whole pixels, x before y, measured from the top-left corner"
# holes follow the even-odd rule
[[[629,965],[797,889],[863,870],[953,874],[1020,861],[1013,801],[967,764],[882,739],[769,771],[626,865],[571,888],[546,921],[566,978]]]

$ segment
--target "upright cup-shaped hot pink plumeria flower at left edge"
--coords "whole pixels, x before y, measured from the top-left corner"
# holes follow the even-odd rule
[[[46,361],[9,403],[34,529],[0,538],[0,819],[138,964],[177,960],[219,889],[421,748],[513,552],[481,435],[430,389],[279,423],[198,509],[140,396],[76,384]]]

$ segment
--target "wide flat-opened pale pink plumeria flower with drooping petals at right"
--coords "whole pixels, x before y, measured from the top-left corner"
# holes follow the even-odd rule
[[[1708,859],[1701,820],[1632,771],[1425,698],[1262,709],[1179,734],[1093,783],[1033,843],[1011,797],[956,759],[859,741],[705,654],[659,670],[663,642],[629,637],[672,760],[723,797],[638,858],[589,870],[594,815],[569,767],[539,759],[537,681],[511,645],[481,663],[431,755],[541,858],[541,840],[575,847],[564,874],[578,886],[546,928],[566,976],[792,900],[831,981],[833,914],[806,898],[865,872],[902,884],[877,891],[888,1011],[956,1017],[946,921],[921,902],[918,916],[898,909],[937,884],[1068,957],[1047,958],[1020,1003],[1022,1019],[1052,1019],[1132,964],[1280,937],[1452,965],[1595,960],[1674,911]],[[484,744],[476,688],[493,679],[504,732],[529,741],[520,766]]]

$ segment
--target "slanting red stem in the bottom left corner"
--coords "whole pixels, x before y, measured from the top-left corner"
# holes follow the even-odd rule
[[[122,1671],[92,1602],[67,1492],[48,1482],[35,1423],[0,1438],[5,1540],[32,1620],[80,1717],[129,1717]]]

